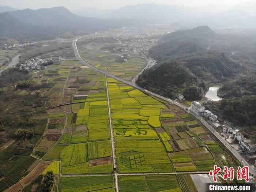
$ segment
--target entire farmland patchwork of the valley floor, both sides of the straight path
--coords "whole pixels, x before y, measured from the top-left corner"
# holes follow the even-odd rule
[[[98,68],[113,69],[104,63],[115,62],[111,60],[112,53],[99,54],[100,47],[90,46],[93,49],[84,50],[83,54],[92,55],[93,60],[102,59],[100,65],[93,61]],[[132,66],[129,62],[125,64]],[[133,77],[126,72],[120,76]],[[108,107],[117,173],[147,173],[118,176],[121,192],[197,192],[190,175],[180,173],[208,172],[215,164],[238,167],[211,134],[178,106],[105,78],[76,60],[50,65],[32,78],[45,102],[41,106],[26,104],[22,111],[15,112],[33,114],[35,137],[28,140],[26,150],[20,150],[14,141],[0,151],[0,191],[18,182],[43,160],[48,162],[46,169],[37,174],[52,170],[56,182],[60,181],[54,186],[56,192],[114,192]]]

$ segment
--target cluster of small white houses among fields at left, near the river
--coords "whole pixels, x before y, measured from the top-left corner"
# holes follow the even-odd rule
[[[32,71],[32,70],[39,70],[39,69],[47,69],[47,65],[49,62],[53,63],[53,62],[58,62],[61,61],[62,58],[61,56],[59,56],[59,58],[56,59],[43,59],[43,58],[34,58],[31,60],[26,61],[24,64],[20,64],[19,69],[26,69],[28,71]]]

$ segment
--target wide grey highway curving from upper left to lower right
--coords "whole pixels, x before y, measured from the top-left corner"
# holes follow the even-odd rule
[[[138,90],[140,90],[140,91],[143,91],[144,93],[153,95],[153,96],[155,96],[155,97],[157,97],[157,98],[163,99],[164,101],[168,101],[168,102],[172,103],[173,105],[177,105],[177,106],[179,106],[181,109],[187,111],[189,114],[191,114],[192,116],[194,116],[197,120],[199,120],[206,128],[208,128],[208,129],[212,132],[212,134],[214,134],[214,135],[223,143],[223,145],[225,145],[225,146],[227,147],[227,149],[230,151],[230,153],[232,153],[239,161],[244,161],[244,165],[249,167],[249,172],[250,172],[251,174],[256,175],[256,172],[255,172],[255,169],[256,169],[256,168],[255,168],[254,166],[249,165],[249,163],[247,163],[247,162],[245,161],[245,159],[244,159],[243,157],[241,157],[241,155],[239,155],[238,152],[237,152],[236,150],[234,150],[234,149],[230,146],[230,144],[227,143],[227,141],[226,141],[225,139],[223,139],[223,138],[219,135],[219,133],[218,133],[210,124],[208,124],[208,123],[203,119],[203,117],[200,117],[199,115],[197,115],[196,113],[194,113],[192,110],[189,110],[189,108],[187,108],[187,107],[181,105],[180,103],[178,103],[178,102],[176,102],[176,101],[173,101],[172,99],[163,97],[163,96],[161,96],[161,95],[155,94],[155,93],[153,93],[153,92],[151,92],[151,91],[148,91],[148,90],[146,90],[146,89],[143,89],[142,87],[137,86],[137,85],[135,84],[135,82],[128,82],[128,81],[126,81],[126,80],[124,80],[124,79],[118,78],[118,77],[116,77],[116,76],[114,76],[114,75],[108,74],[108,73],[105,72],[105,71],[102,71],[102,70],[100,70],[100,69],[97,69],[97,68],[93,67],[92,65],[88,64],[87,62],[85,62],[85,61],[80,57],[80,55],[79,55],[79,53],[78,53],[78,49],[77,49],[77,47],[76,47],[76,41],[78,41],[78,39],[75,39],[75,40],[72,42],[72,46],[73,46],[73,49],[74,49],[74,53],[75,53],[76,59],[78,59],[83,65],[86,65],[87,67],[90,67],[90,68],[94,69],[95,71],[97,71],[97,72],[99,72],[99,73],[102,73],[102,74],[104,74],[104,75],[106,75],[106,76],[109,76],[109,77],[111,77],[111,78],[113,78],[113,79],[116,79],[116,80],[118,80],[118,81],[120,81],[120,82],[126,83],[126,84],[128,84],[129,86],[132,86],[132,87],[134,87],[134,88],[136,88],[136,89],[138,89]],[[119,41],[119,42],[120,42],[120,41]],[[145,57],[145,58],[146,58],[146,57]]]

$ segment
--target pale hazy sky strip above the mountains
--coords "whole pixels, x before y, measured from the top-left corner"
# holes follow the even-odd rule
[[[0,0],[0,5],[9,5],[17,9],[38,9],[64,6],[69,9],[98,7],[101,9],[119,8],[125,5],[157,3],[165,5],[200,6],[207,4],[237,5],[248,0]],[[256,0],[249,0],[256,1]]]

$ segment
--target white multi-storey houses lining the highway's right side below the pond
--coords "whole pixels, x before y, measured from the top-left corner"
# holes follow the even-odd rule
[[[178,98],[182,98],[182,97],[178,96]],[[217,121],[218,117],[215,114],[213,114],[209,110],[205,110],[204,106],[201,105],[197,101],[193,101],[191,104],[192,104],[191,109],[193,111],[195,111],[197,113],[201,113],[204,117],[206,117],[210,121],[212,121],[212,123],[214,125],[215,124],[219,125],[218,123],[214,123],[214,122],[218,122]],[[219,126],[215,126],[215,127],[219,127]],[[240,145],[240,150],[238,150],[238,152],[241,155],[245,154],[245,157],[246,157],[248,162],[250,162],[250,163],[255,162],[256,163],[256,154],[255,154],[256,153],[256,144],[252,143],[250,140],[245,138],[244,135],[241,132],[239,132],[239,129],[231,128],[230,124],[229,125],[224,124],[221,127],[222,127],[222,131],[224,133],[231,134],[231,138],[234,138],[234,140],[237,140],[237,142]]]

